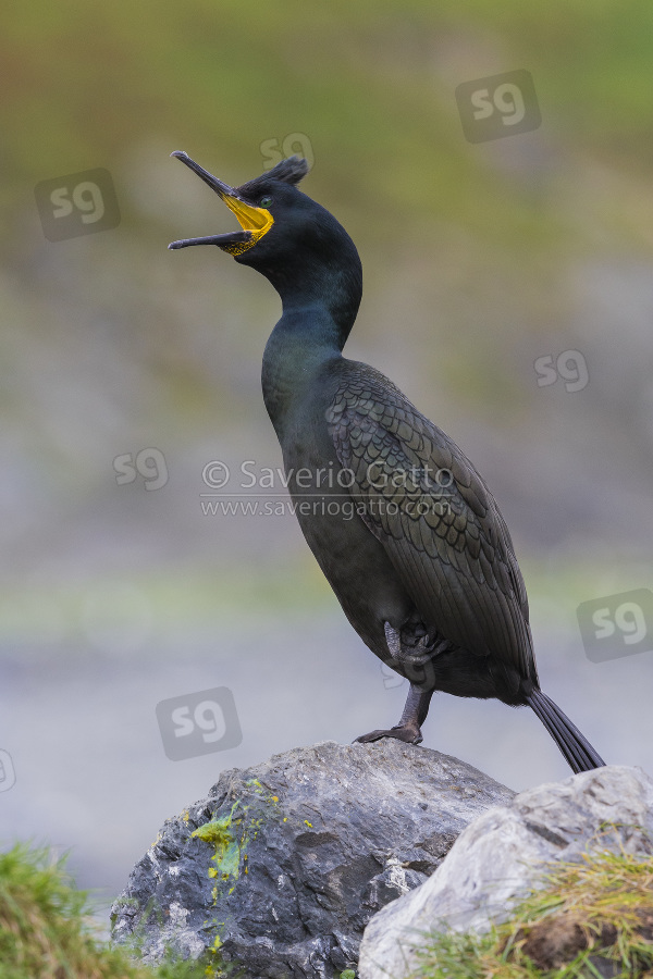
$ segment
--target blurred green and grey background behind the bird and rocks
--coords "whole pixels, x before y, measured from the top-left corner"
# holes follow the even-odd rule
[[[357,243],[348,356],[472,458],[513,532],[544,689],[651,770],[651,656],[595,664],[581,602],[651,587],[653,7],[648,0],[3,4],[0,793],[7,841],[115,893],[224,767],[394,722],[405,686],[344,622],[292,517],[202,513],[202,468],[281,462],[260,396],[269,284],[180,237],[298,134]],[[466,140],[461,83],[527,70],[542,124]],[[118,227],[47,240],[34,188],[111,174]],[[582,389],[539,385],[577,351]],[[168,481],[114,459],[163,455]],[[650,623],[653,629],[653,623]],[[653,642],[651,644],[653,647]],[[170,763],[155,706],[226,685],[238,748]],[[567,770],[534,717],[436,698],[424,743],[515,789]]]

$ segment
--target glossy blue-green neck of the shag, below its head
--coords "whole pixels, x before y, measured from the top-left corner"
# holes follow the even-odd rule
[[[345,267],[280,270],[268,274],[283,313],[263,355],[266,408],[278,434],[287,412],[310,394],[325,361],[337,359],[352,331],[362,294],[360,260]]]

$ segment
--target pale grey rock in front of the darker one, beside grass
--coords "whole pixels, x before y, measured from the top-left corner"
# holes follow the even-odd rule
[[[613,765],[521,792],[475,819],[426,883],[374,915],[360,979],[410,975],[421,932],[484,931],[507,919],[543,862],[580,860],[592,847],[650,854],[652,841],[653,780],[639,768]]]

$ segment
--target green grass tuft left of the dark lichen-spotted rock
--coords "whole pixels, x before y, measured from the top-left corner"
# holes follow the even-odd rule
[[[19,843],[0,854],[0,979],[206,979],[214,964],[169,961],[138,965],[122,947],[98,940],[88,893],[75,888],[64,860]]]

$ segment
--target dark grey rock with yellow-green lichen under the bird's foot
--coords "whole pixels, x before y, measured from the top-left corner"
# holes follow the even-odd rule
[[[440,752],[328,741],[225,771],[164,823],[113,908],[152,963],[220,950],[255,977],[355,968],[362,931],[428,880],[463,829],[514,793]]]

